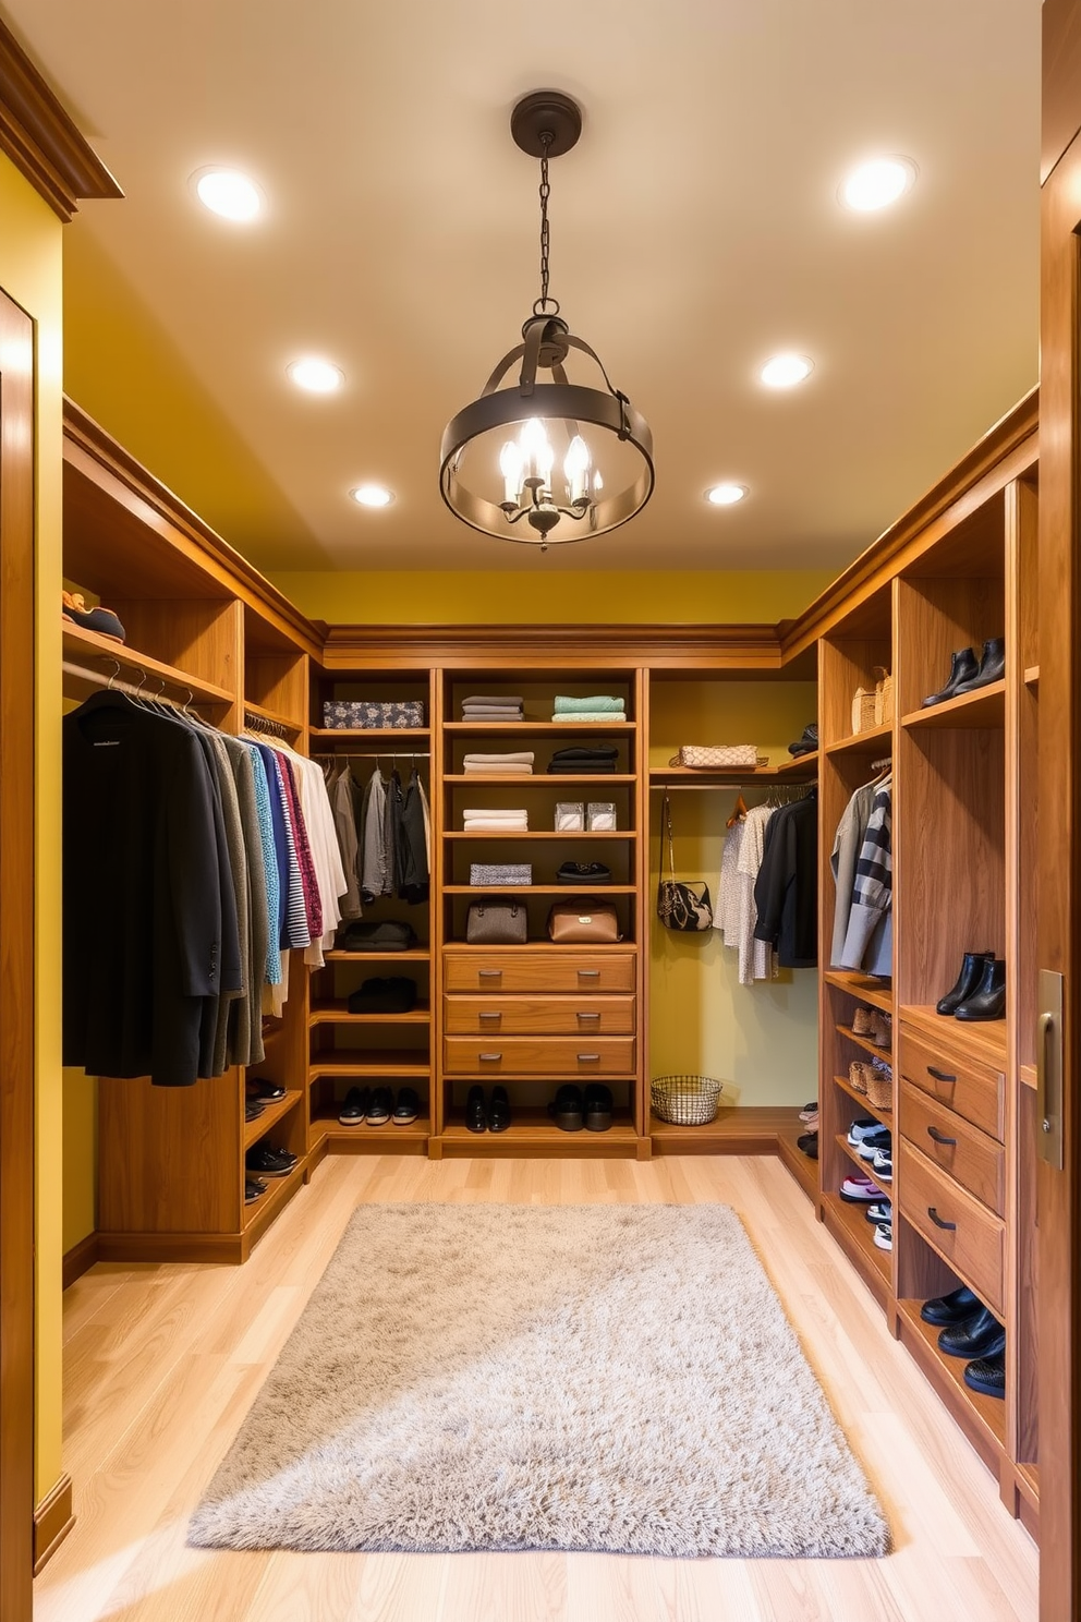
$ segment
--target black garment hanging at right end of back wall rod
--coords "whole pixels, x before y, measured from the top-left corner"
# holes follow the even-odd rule
[[[755,939],[781,968],[818,963],[818,796],[781,806],[770,819],[755,879]]]

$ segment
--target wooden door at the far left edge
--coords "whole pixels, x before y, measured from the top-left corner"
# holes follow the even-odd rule
[[[0,292],[0,1617],[34,1523],[34,323]]]

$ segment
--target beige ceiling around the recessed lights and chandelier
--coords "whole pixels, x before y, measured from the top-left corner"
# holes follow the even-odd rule
[[[126,193],[68,230],[274,493],[271,524],[199,508],[264,569],[836,568],[1036,381],[1039,0],[0,8]],[[538,558],[459,524],[438,462],[538,292],[536,164],[507,120],[551,86],[585,117],[553,164],[551,290],[648,418],[656,491]],[[883,152],[916,161],[911,193],[843,209]],[[198,204],[216,162],[259,182],[259,222]],[[789,349],[810,380],[765,389]],[[310,352],[339,394],[287,380]],[[199,506],[182,446],[170,472]],[[366,478],[394,506],[357,508]],[[721,478],[739,508],[703,501]]]

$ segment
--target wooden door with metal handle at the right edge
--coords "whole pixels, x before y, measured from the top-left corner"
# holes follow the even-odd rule
[[[1037,1132],[1040,1622],[1081,1614],[1081,564],[1078,336],[1081,281],[1081,5],[1044,5],[1039,464],[1039,968],[1050,1096]],[[1057,1054],[1060,1075],[1055,1075]]]

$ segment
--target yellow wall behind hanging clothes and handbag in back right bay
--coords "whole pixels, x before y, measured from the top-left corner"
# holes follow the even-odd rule
[[[666,766],[681,743],[754,743],[771,761],[815,719],[815,686],[804,681],[663,681],[650,686],[650,766]],[[747,790],[747,805],[767,798]],[[721,847],[734,788],[671,796],[676,876],[705,881],[716,902]],[[650,907],[660,865],[661,795],[650,793]],[[711,1075],[721,1103],[804,1105],[818,1088],[818,998],[814,968],[739,985],[737,955],[716,931],[677,934],[650,925],[650,1077]]]

